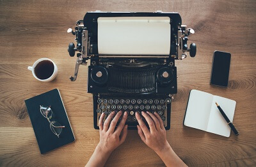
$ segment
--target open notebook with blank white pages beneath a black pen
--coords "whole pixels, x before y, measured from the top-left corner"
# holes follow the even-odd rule
[[[217,102],[230,121],[233,121],[236,101],[212,95],[204,91],[191,90],[183,124],[221,136],[230,136],[230,127],[221,115]]]

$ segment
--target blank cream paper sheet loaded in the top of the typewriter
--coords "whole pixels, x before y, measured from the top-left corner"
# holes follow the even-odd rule
[[[170,17],[99,17],[97,21],[99,54],[170,54]]]

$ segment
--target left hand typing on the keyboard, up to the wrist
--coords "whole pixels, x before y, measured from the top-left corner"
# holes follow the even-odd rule
[[[113,118],[113,116],[115,117]],[[100,147],[103,152],[112,152],[113,150],[115,150],[116,147],[118,147],[125,141],[125,138],[127,136],[127,125],[124,124],[127,119],[127,112],[125,111],[122,120],[120,121],[118,127],[116,127],[116,123],[118,122],[120,116],[122,116],[122,111],[119,111],[118,113],[116,113],[116,115],[115,112],[111,112],[108,118],[103,123],[104,113],[100,115],[100,142],[98,144],[98,147]],[[111,118],[113,118],[112,121]]]

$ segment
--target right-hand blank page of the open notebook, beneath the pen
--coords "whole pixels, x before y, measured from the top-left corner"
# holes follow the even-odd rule
[[[221,136],[229,137],[231,129],[226,120],[221,115],[215,102],[220,105],[221,109],[223,109],[229,120],[233,122],[236,101],[220,96],[214,96],[212,100],[212,108],[209,116],[207,132],[212,132],[215,134],[220,134]]]

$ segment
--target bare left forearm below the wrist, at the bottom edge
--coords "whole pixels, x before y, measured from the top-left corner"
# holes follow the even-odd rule
[[[106,152],[97,145],[86,166],[104,166],[110,154],[111,152]]]

